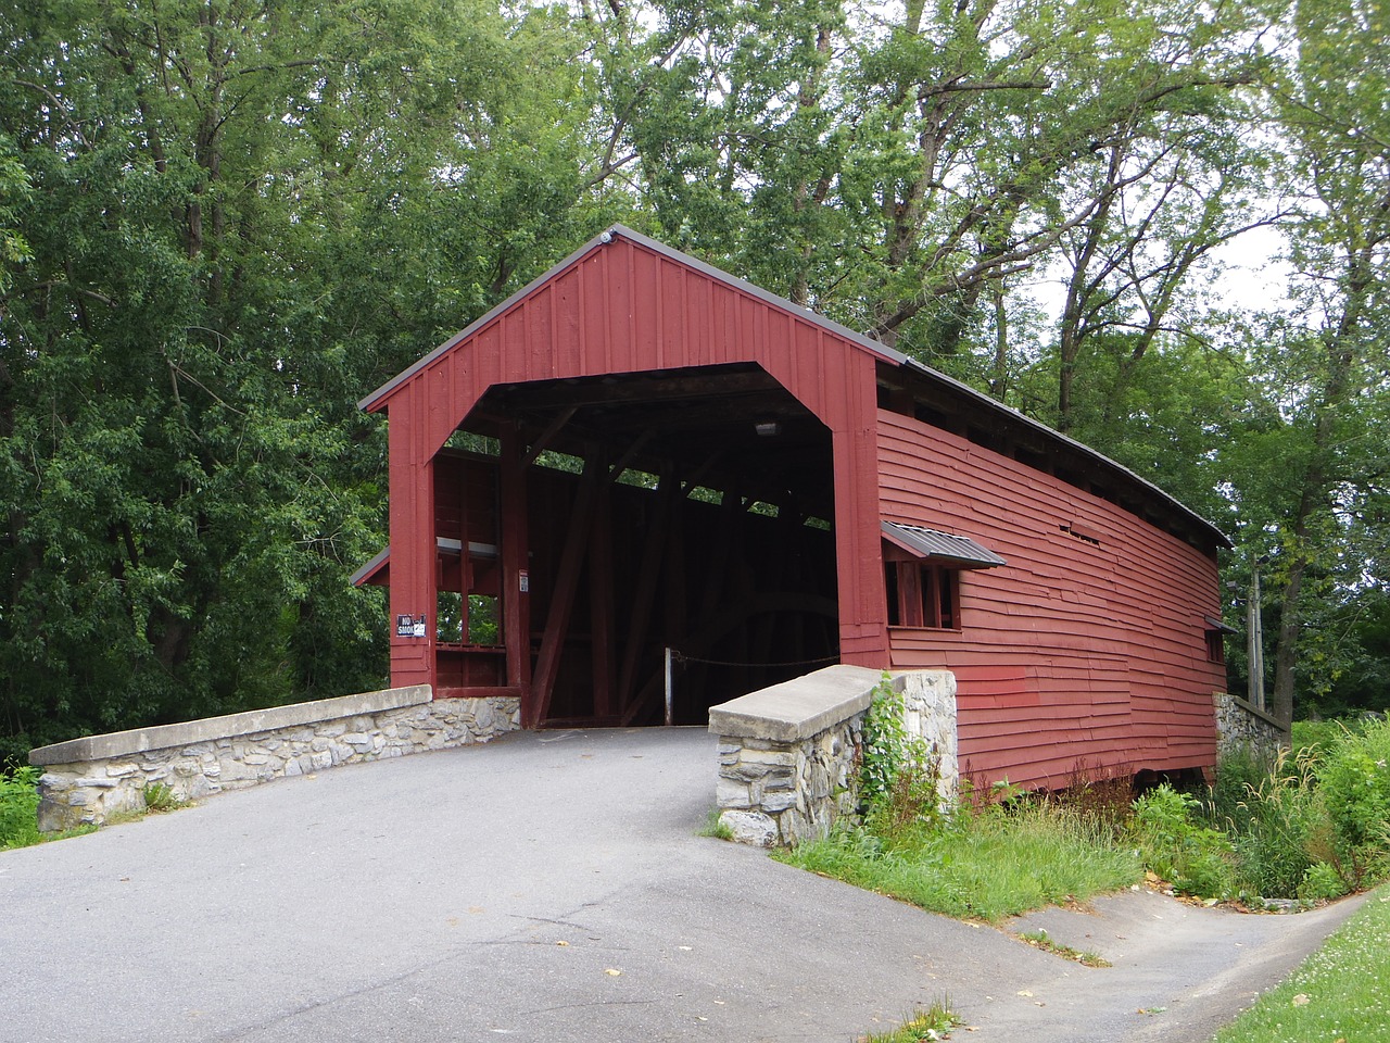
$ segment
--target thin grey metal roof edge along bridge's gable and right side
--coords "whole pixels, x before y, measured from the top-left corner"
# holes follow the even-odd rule
[[[1061,431],[1055,431],[1054,428],[1048,427],[1047,424],[1044,424],[1044,423],[1041,423],[1038,420],[1034,420],[1034,419],[1029,417],[1024,413],[1020,413],[1019,410],[1013,409],[1012,406],[1006,406],[1002,402],[998,402],[997,399],[990,398],[983,391],[977,391],[976,388],[972,388],[969,384],[965,384],[965,382],[962,382],[962,381],[959,381],[959,380],[956,380],[954,377],[948,377],[947,374],[940,373],[938,370],[934,370],[930,366],[926,366],[926,364],[917,362],[916,359],[912,359],[912,357],[903,355],[902,352],[894,350],[892,348],[888,348],[887,345],[884,345],[884,343],[873,339],[872,337],[866,337],[865,334],[858,332],[855,330],[851,330],[847,325],[841,325],[840,323],[837,323],[837,321],[834,321],[831,318],[827,318],[823,314],[819,314],[819,313],[812,312],[812,310],[809,310],[806,307],[802,307],[801,305],[792,303],[791,300],[787,300],[785,298],[780,298],[776,293],[771,293],[771,292],[769,292],[769,291],[763,289],[762,286],[758,286],[758,285],[755,285],[752,282],[741,280],[741,278],[738,278],[735,275],[730,275],[727,271],[716,268],[714,266],[708,264],[708,263],[699,260],[698,257],[692,257],[692,256],[689,256],[687,253],[681,253],[680,250],[677,250],[677,249],[674,249],[671,246],[667,246],[666,243],[662,243],[662,242],[659,242],[656,239],[645,236],[641,232],[635,232],[631,228],[627,228],[626,225],[621,225],[621,224],[614,224],[607,231],[603,231],[599,235],[594,236],[587,243],[584,243],[581,248],[578,248],[577,250],[574,250],[569,257],[566,257],[564,260],[562,260],[557,264],[555,264],[553,267],[550,267],[542,275],[538,275],[537,278],[534,278],[531,282],[528,282],[525,286],[523,286],[516,293],[513,293],[512,296],[509,296],[506,300],[503,300],[496,307],[491,309],[482,317],[480,317],[475,321],[470,323],[464,330],[460,330],[457,334],[455,334],[448,341],[445,341],[443,343],[441,343],[432,352],[430,352],[428,355],[425,355],[424,357],[421,357],[418,362],[416,362],[413,366],[407,367],[406,370],[403,370],[399,374],[396,374],[395,377],[392,377],[389,381],[386,381],[379,388],[377,388],[375,391],[373,391],[370,395],[367,395],[366,398],[363,398],[357,403],[359,407],[363,409],[363,410],[366,410],[366,412],[368,412],[368,413],[375,413],[375,412],[379,412],[382,409],[388,409],[389,399],[392,398],[393,392],[398,388],[400,388],[402,385],[407,384],[418,373],[427,370],[431,366],[431,363],[434,363],[436,359],[439,359],[439,356],[448,353],[455,346],[457,346],[463,341],[468,339],[474,332],[480,331],[482,327],[488,325],[488,323],[491,323],[492,320],[495,320],[498,316],[503,314],[505,312],[507,312],[509,309],[512,309],[514,305],[517,305],[520,300],[523,300],[524,298],[527,298],[528,295],[531,295],[532,292],[535,292],[535,289],[539,288],[541,285],[549,282],[550,280],[553,280],[556,275],[559,275],[564,270],[567,270],[571,266],[577,264],[580,260],[582,260],[585,256],[588,256],[594,250],[602,249],[605,245],[607,245],[607,243],[610,243],[610,242],[613,242],[614,239],[619,239],[619,238],[628,239],[630,242],[637,243],[637,245],[639,245],[639,246],[642,246],[642,248],[645,248],[645,249],[648,249],[648,250],[651,250],[651,252],[653,252],[653,253],[656,253],[656,254],[659,254],[662,257],[666,257],[667,260],[671,260],[671,261],[674,261],[677,264],[684,264],[688,268],[691,268],[694,271],[698,271],[698,273],[701,273],[701,274],[703,274],[703,275],[706,275],[706,277],[709,277],[712,280],[723,282],[724,285],[727,285],[727,286],[730,286],[733,289],[737,289],[737,291],[741,291],[744,293],[748,293],[748,295],[751,295],[753,298],[758,298],[759,300],[763,300],[767,305],[771,305],[773,307],[777,307],[777,309],[781,309],[781,310],[787,312],[791,316],[795,316],[795,317],[802,318],[802,320],[805,320],[808,323],[812,323],[812,324],[820,327],[821,330],[826,330],[827,332],[834,334],[835,337],[847,341],[848,343],[853,345],[855,348],[873,355],[880,362],[883,362],[883,363],[885,363],[885,364],[888,364],[891,367],[897,367],[901,371],[903,371],[905,374],[910,374],[917,381],[927,381],[930,384],[935,384],[935,385],[938,385],[938,387],[941,387],[944,389],[948,389],[948,391],[954,392],[954,395],[956,398],[969,402],[972,407],[977,407],[977,409],[983,410],[986,414],[992,416],[997,420],[1001,420],[1001,421],[1004,421],[1006,424],[1011,424],[1011,426],[1015,426],[1015,427],[1027,428],[1029,431],[1033,431],[1034,434],[1040,435],[1042,441],[1051,442],[1055,446],[1058,446],[1059,449],[1066,449],[1066,451],[1070,451],[1073,455],[1079,455],[1079,456],[1083,456],[1083,458],[1088,459],[1091,463],[1098,464],[1102,470],[1109,471],[1113,476],[1123,478],[1126,483],[1129,483],[1129,484],[1131,484],[1131,485],[1143,490],[1147,495],[1154,496],[1161,503],[1163,503],[1168,509],[1175,510],[1182,517],[1184,517],[1188,522],[1194,523],[1202,531],[1205,531],[1208,535],[1211,535],[1216,541],[1218,545],[1220,545],[1220,547],[1230,547],[1232,545],[1230,540],[1226,537],[1226,534],[1222,533],[1220,528],[1218,528],[1215,524],[1212,524],[1211,522],[1208,522],[1205,517],[1202,517],[1197,512],[1191,510],[1190,508],[1184,506],[1182,502],[1179,502],[1176,498],[1173,498],[1169,494],[1166,494],[1163,490],[1161,490],[1154,483],[1148,481],[1147,478],[1140,477],[1138,474],[1136,474],[1134,471],[1131,471],[1129,467],[1125,467],[1123,464],[1116,463],[1111,458],[1105,456],[1101,452],[1097,452],[1095,449],[1093,449],[1091,446],[1086,445],[1084,442],[1079,442],[1074,438],[1069,438],[1068,435],[1062,434]]]

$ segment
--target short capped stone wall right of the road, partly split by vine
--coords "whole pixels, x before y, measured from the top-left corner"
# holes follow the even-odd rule
[[[856,814],[863,718],[881,679],[862,666],[830,666],[710,708],[714,795],[734,840],[790,847]],[[892,684],[903,693],[909,733],[927,738],[941,761],[942,800],[954,800],[955,676],[919,670]]]

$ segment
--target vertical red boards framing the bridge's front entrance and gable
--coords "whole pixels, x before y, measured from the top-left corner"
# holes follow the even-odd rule
[[[738,362],[760,364],[831,431],[842,658],[884,665],[874,356],[621,236],[459,338],[378,403],[388,406],[392,428],[392,613],[418,602],[432,626],[434,533],[414,501],[430,488],[430,460],[488,387]],[[418,644],[393,638],[392,648],[393,683],[427,677],[430,656]]]

